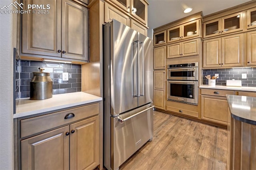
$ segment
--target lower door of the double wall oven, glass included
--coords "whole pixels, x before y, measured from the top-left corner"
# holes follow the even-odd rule
[[[167,99],[189,104],[198,104],[197,81],[168,80]]]

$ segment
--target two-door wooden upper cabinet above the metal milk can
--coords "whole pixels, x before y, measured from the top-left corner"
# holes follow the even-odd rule
[[[47,3],[49,14],[22,14],[22,54],[88,61],[88,9],[71,0]]]

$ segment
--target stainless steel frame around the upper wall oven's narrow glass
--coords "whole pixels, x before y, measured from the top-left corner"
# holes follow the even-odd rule
[[[198,80],[198,67],[189,67],[189,68],[169,68],[167,80]],[[194,71],[194,77],[171,77],[170,72],[179,72],[179,71]]]

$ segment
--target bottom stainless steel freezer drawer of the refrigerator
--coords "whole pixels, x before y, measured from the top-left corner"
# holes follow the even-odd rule
[[[134,152],[153,137],[153,107],[142,106],[136,110],[111,118],[111,168],[116,170]],[[134,116],[136,114],[136,116]],[[120,121],[125,120],[125,121]]]

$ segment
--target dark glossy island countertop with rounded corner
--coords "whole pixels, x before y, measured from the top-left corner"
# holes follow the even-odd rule
[[[226,95],[232,118],[256,125],[256,98]]]

